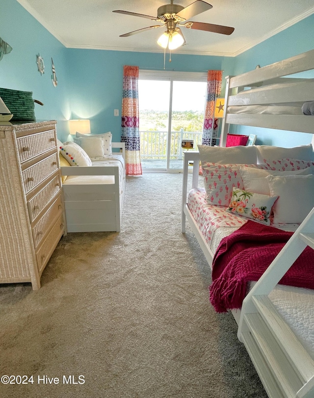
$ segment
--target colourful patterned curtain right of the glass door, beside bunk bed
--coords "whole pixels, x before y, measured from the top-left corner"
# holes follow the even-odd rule
[[[215,99],[221,93],[222,71],[208,71],[207,75],[207,102],[204,116],[202,144],[216,145],[218,119],[214,119]]]

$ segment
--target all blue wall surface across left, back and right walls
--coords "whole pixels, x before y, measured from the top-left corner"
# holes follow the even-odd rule
[[[94,133],[111,131],[119,140],[121,117],[122,74],[124,65],[140,69],[163,69],[163,52],[66,49],[40,25],[16,0],[0,2],[0,37],[13,48],[0,61],[0,87],[33,92],[33,98],[44,102],[35,104],[37,120],[57,120],[61,141],[68,138],[69,119],[89,118]],[[289,27],[237,57],[214,57],[172,54],[166,69],[186,72],[224,70],[226,75],[247,72],[256,65],[267,65],[314,48],[314,16]],[[45,62],[45,74],[38,72],[36,55]],[[51,58],[56,69],[58,85],[52,85]],[[153,93],[152,93],[153,95]],[[237,129],[239,130],[239,128]],[[258,134],[259,144],[293,146],[311,141],[310,135],[287,135],[273,130],[250,128]],[[240,132],[247,128],[240,127]],[[239,132],[239,131],[237,131]],[[297,144],[296,144],[297,141]]]

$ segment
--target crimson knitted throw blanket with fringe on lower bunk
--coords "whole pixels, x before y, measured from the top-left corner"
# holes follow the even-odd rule
[[[292,234],[249,220],[222,239],[213,258],[209,287],[217,312],[241,307],[248,282],[261,277]],[[307,247],[279,283],[314,289],[314,250]]]

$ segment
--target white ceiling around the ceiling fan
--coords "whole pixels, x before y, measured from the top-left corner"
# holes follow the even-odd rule
[[[194,0],[175,0],[186,7]],[[207,0],[206,0],[207,1]],[[18,0],[65,47],[163,52],[157,38],[165,28],[119,35],[156,21],[113,13],[125,10],[157,16],[170,0]],[[213,8],[193,21],[235,27],[230,35],[182,28],[186,44],[177,53],[236,56],[314,13],[314,0],[208,0]]]

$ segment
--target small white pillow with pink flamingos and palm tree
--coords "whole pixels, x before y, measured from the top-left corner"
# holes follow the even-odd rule
[[[277,195],[261,195],[233,188],[231,201],[226,211],[270,225],[269,216],[276,199],[278,199]]]

